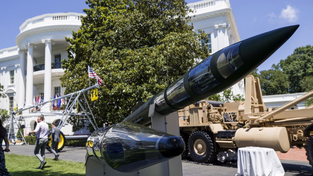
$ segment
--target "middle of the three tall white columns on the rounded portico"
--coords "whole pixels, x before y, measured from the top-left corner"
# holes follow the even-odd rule
[[[26,104],[25,106],[33,105],[33,51],[34,44],[27,45],[27,75],[26,75]]]

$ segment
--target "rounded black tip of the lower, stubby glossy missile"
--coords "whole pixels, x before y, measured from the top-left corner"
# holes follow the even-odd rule
[[[173,158],[182,154],[185,143],[178,136],[162,137],[159,141],[158,148],[164,157]]]

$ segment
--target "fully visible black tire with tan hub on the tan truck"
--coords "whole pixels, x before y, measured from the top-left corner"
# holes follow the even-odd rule
[[[217,153],[214,152],[213,135],[208,131],[198,130],[191,133],[188,139],[190,157],[201,163],[216,161]]]

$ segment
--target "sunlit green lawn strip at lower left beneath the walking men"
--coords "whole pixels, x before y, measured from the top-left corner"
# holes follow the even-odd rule
[[[47,162],[44,169],[37,169],[40,165],[35,156],[25,156],[5,153],[6,168],[12,176],[83,176],[85,175],[85,163],[68,160],[54,161],[45,158]]]

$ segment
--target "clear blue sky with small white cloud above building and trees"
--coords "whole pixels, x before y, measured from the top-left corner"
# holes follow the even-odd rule
[[[187,0],[187,3],[197,2]],[[240,39],[247,39],[276,28],[300,24],[295,34],[259,70],[268,70],[292,54],[300,46],[313,45],[312,0],[230,0]],[[0,4],[0,49],[16,46],[15,37],[19,26],[28,18],[45,13],[77,12],[88,8],[85,0],[11,0]]]

